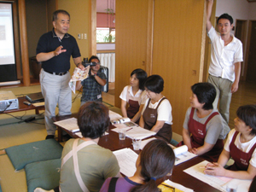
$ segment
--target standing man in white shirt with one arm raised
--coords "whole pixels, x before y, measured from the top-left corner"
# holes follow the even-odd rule
[[[207,0],[207,32],[212,42],[208,82],[213,84],[217,91],[213,108],[218,107],[219,98],[219,113],[229,124],[231,96],[238,90],[243,61],[242,44],[230,33],[233,18],[228,14],[218,17],[219,33],[215,31],[210,20],[212,4],[213,0]]]

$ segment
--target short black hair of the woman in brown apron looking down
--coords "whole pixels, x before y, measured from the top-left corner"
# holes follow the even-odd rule
[[[151,75],[146,79],[144,87],[154,93],[160,93],[164,90],[164,79],[160,75]]]

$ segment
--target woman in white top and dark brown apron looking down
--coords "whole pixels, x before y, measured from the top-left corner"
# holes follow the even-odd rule
[[[143,108],[139,125],[156,132],[156,136],[170,143],[172,140],[172,106],[161,94],[164,90],[164,79],[160,75],[151,75],[145,81],[148,99]]]

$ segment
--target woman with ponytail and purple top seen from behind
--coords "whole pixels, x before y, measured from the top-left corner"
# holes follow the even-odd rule
[[[172,172],[174,161],[172,148],[160,139],[153,140],[139,154],[132,177],[109,177],[100,192],[158,192],[158,184]]]

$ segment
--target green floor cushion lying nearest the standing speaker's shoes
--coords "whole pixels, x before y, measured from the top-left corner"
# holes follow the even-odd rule
[[[15,170],[23,169],[28,163],[60,159],[62,146],[55,139],[47,139],[34,143],[26,143],[14,147],[6,148]]]

